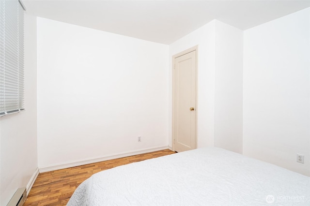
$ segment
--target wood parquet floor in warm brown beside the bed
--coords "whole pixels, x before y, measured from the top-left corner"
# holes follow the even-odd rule
[[[40,173],[31,188],[24,206],[65,206],[78,185],[97,172],[131,162],[140,162],[173,153],[175,152],[165,149],[131,157]]]

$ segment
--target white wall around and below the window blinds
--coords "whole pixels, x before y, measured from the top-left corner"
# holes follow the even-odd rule
[[[25,109],[0,118],[0,205],[31,184],[37,169],[36,17],[25,14]],[[29,191],[27,191],[29,192]]]

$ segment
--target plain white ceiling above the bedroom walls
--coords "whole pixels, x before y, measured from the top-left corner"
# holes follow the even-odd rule
[[[239,29],[310,7],[310,0],[23,0],[27,13],[171,44],[213,19]]]

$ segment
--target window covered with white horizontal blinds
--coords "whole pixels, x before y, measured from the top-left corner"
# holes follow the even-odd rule
[[[24,9],[0,0],[0,117],[24,110]]]

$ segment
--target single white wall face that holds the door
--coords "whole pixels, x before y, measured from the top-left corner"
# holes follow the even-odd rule
[[[169,146],[172,147],[172,56],[198,45],[197,147],[214,145],[215,20],[169,46]]]

